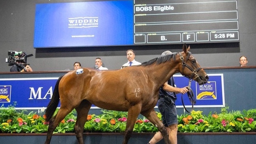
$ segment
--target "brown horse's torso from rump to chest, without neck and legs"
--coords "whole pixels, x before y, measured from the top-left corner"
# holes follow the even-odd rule
[[[130,105],[146,100],[145,95],[152,95],[143,72],[134,68],[103,71],[83,68],[68,72],[60,81],[61,101],[68,99],[66,105],[79,105],[81,100],[88,100],[103,109],[126,111]]]

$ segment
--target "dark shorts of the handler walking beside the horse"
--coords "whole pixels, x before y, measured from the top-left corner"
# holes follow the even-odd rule
[[[175,100],[169,96],[160,96],[158,100],[158,109],[162,114],[162,121],[165,127],[172,124],[177,124],[177,111]]]

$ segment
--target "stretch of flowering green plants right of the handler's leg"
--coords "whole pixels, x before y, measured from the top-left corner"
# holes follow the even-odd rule
[[[250,110],[253,111],[253,110]],[[246,112],[244,110],[244,112]],[[241,111],[228,112],[223,107],[220,114],[200,115],[201,111],[192,111],[191,115],[178,116],[178,132],[255,132],[254,118],[245,117]],[[192,117],[192,118],[191,118]],[[189,120],[188,120],[189,118]]]

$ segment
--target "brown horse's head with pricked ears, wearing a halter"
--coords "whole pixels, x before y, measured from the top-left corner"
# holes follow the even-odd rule
[[[198,84],[205,84],[209,77],[189,50],[190,46],[187,47],[186,44],[183,44],[183,51],[179,52],[179,60],[181,60],[182,63],[179,66],[179,71],[183,76],[197,81]]]

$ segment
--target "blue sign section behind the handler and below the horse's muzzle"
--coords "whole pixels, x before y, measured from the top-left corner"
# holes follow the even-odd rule
[[[188,86],[189,79],[182,75],[175,75],[175,85],[178,88]],[[225,107],[223,74],[208,74],[209,81],[206,84],[199,85],[196,81],[191,82],[191,89],[196,97],[194,107]],[[186,82],[187,81],[187,82]],[[184,105],[192,107],[187,97],[183,95]],[[177,94],[175,102],[176,107],[183,107],[181,94]]]

